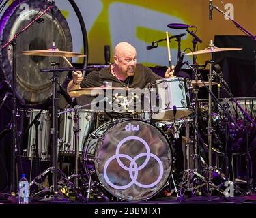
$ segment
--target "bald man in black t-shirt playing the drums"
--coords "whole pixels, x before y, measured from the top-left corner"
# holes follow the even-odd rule
[[[167,69],[165,78],[173,76],[173,69]],[[70,90],[101,87],[104,81],[111,82],[112,87],[140,88],[162,77],[154,74],[152,70],[141,64],[137,64],[136,49],[128,42],[120,42],[115,46],[113,64],[109,68],[90,72],[85,78],[82,72],[73,72],[73,80],[68,84],[67,91],[70,97],[74,97]]]

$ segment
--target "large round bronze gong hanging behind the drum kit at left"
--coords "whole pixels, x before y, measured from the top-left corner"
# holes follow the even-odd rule
[[[0,44],[3,46],[12,37],[24,29],[35,17],[42,14],[51,1],[14,1],[1,16]],[[16,90],[27,104],[40,104],[52,93],[53,72],[40,72],[40,69],[51,68],[52,57],[22,55],[24,50],[47,50],[53,42],[55,47],[63,51],[72,51],[72,37],[68,22],[61,11],[54,7],[55,20],[48,10],[38,22],[21,33],[16,39]],[[0,51],[0,64],[5,78],[12,84],[12,53],[8,48]],[[71,61],[71,59],[69,59]],[[67,67],[62,57],[55,57],[59,67]],[[67,72],[61,72],[59,82],[64,82]]]

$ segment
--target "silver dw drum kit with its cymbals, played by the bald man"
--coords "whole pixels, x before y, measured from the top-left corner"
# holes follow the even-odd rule
[[[214,52],[241,50],[240,48],[217,48],[210,46],[205,50],[188,53],[186,55],[211,54]],[[31,50],[23,55],[74,57],[79,53],[60,50]],[[68,61],[66,59],[66,61]],[[51,63],[53,66],[53,64]],[[69,63],[72,67],[71,63]],[[56,93],[57,76],[53,66],[53,93]],[[212,70],[212,69],[210,69]],[[49,69],[51,71],[51,69]],[[53,188],[68,187],[76,198],[89,200],[102,198],[103,200],[148,200],[156,196],[171,183],[175,187],[177,197],[180,197],[175,179],[173,166],[175,164],[175,151],[172,138],[179,138],[181,127],[186,127],[186,152],[185,172],[186,189],[196,191],[203,185],[210,185],[212,189],[223,191],[212,183],[213,168],[210,162],[205,163],[199,153],[199,100],[198,92],[201,87],[216,85],[210,78],[203,82],[196,76],[195,80],[173,77],[162,78],[148,84],[145,99],[150,107],[138,111],[129,111],[130,118],[111,119],[104,121],[104,110],[88,110],[85,106],[75,106],[72,109],[57,111],[56,102],[53,102],[53,112],[49,116],[48,110],[35,110],[30,112],[29,123],[40,113],[40,128],[29,130],[29,140],[24,156],[29,159],[37,157],[49,161],[55,155],[53,166],[37,176],[32,182],[33,196],[40,196],[53,191]],[[132,89],[119,87],[91,87],[72,90],[76,96],[95,96],[106,91],[132,92]],[[151,96],[156,96],[152,98]],[[57,94],[53,99],[57,98]],[[192,99],[192,101],[191,101]],[[103,98],[104,102],[109,99]],[[90,104],[89,104],[90,105]],[[208,109],[210,106],[208,106]],[[134,115],[136,114],[136,116]],[[139,115],[138,115],[139,114]],[[212,112],[210,119],[212,121]],[[193,126],[194,136],[191,136],[190,125]],[[167,126],[170,134],[166,133],[163,126]],[[212,126],[208,126],[208,128]],[[52,138],[50,139],[50,135]],[[208,131],[209,134],[209,131]],[[57,138],[57,140],[56,140]],[[55,146],[51,155],[49,143]],[[193,153],[191,153],[193,144]],[[211,145],[208,144],[210,153]],[[57,169],[59,157],[72,156],[75,158],[75,169],[72,176],[66,176]],[[193,157],[191,166],[190,157]],[[211,157],[210,157],[211,158]],[[209,159],[208,159],[209,161]],[[203,170],[210,171],[202,174]],[[81,168],[81,169],[80,169]],[[39,181],[48,172],[53,172],[53,185],[46,187]],[[57,174],[59,175],[57,177]],[[191,176],[193,174],[193,176]],[[193,178],[191,178],[193,177]],[[197,179],[195,179],[197,178]],[[198,183],[195,180],[201,181]],[[196,184],[193,184],[196,183]],[[57,186],[57,187],[55,187]]]

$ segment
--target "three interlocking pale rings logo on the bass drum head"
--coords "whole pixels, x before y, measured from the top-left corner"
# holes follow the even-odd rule
[[[126,154],[119,154],[120,147],[128,140],[138,140],[145,146],[146,152],[140,153],[133,158]],[[130,161],[130,166],[129,167],[125,166],[124,163],[122,163],[122,161],[120,160],[120,157],[128,159]],[[141,166],[137,166],[136,161],[140,157],[146,157],[146,159],[145,159],[144,163],[141,164]],[[137,181],[137,176],[139,174],[139,170],[142,170],[143,168],[145,168],[145,166],[147,166],[147,163],[149,163],[149,161],[150,161],[150,157],[154,158],[158,162],[159,167],[160,167],[160,173],[159,173],[157,180],[154,181],[154,183],[141,184]],[[119,164],[119,166],[129,172],[131,181],[127,185],[115,185],[109,180],[109,176],[107,174],[107,168],[109,166],[109,163],[111,161],[113,161],[113,159],[117,159],[117,163]],[[123,140],[121,140],[119,142],[119,144],[117,145],[117,149],[115,150],[115,155],[113,155],[106,161],[106,163],[104,165],[104,171],[103,171],[103,175],[104,175],[106,183],[108,183],[114,189],[128,189],[128,187],[131,187],[133,184],[136,184],[139,187],[148,189],[148,188],[151,188],[151,187],[154,187],[155,185],[157,185],[161,181],[163,174],[164,174],[164,166],[162,164],[162,161],[156,155],[154,155],[153,153],[150,153],[150,146],[147,144],[147,142],[145,142],[145,140],[143,140],[142,138],[140,138],[138,136],[128,136],[128,137],[124,138]]]

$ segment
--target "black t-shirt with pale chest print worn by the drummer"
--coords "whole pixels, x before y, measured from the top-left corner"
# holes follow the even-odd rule
[[[89,88],[89,87],[101,87],[104,84],[104,81],[109,82],[108,85],[111,85],[112,87],[129,87],[129,88],[139,88],[144,89],[147,87],[147,84],[154,82],[156,80],[162,79],[161,76],[158,76],[157,74],[154,74],[152,70],[148,67],[145,67],[141,64],[137,64],[135,68],[134,76],[130,76],[126,78],[124,81],[118,80],[113,74],[111,74],[110,67],[109,68],[103,68],[99,71],[92,71],[87,76],[85,76],[84,80],[81,82],[80,87],[81,88]],[[115,96],[117,97],[117,96]],[[127,108],[126,104],[124,104],[124,101],[127,102],[127,99],[119,98],[118,99],[113,97],[113,102],[119,102],[118,109],[120,105],[125,105],[124,108]],[[130,97],[130,95],[129,95]],[[130,99],[128,97],[128,99]],[[117,99],[118,101],[115,101]],[[119,100],[120,99],[120,100]],[[109,104],[109,103],[107,103]],[[137,103],[138,104],[138,101]],[[143,102],[139,102],[139,104],[143,105]],[[117,112],[117,110],[113,110],[113,107],[115,104],[111,105],[112,111],[106,111],[106,103],[104,105],[104,119],[109,120],[112,118],[131,118],[132,112],[131,110],[122,110],[122,112]],[[136,106],[135,106],[136,107]],[[108,107],[110,108],[110,107]],[[122,108],[122,107],[121,107]],[[143,106],[142,106],[143,109]]]

